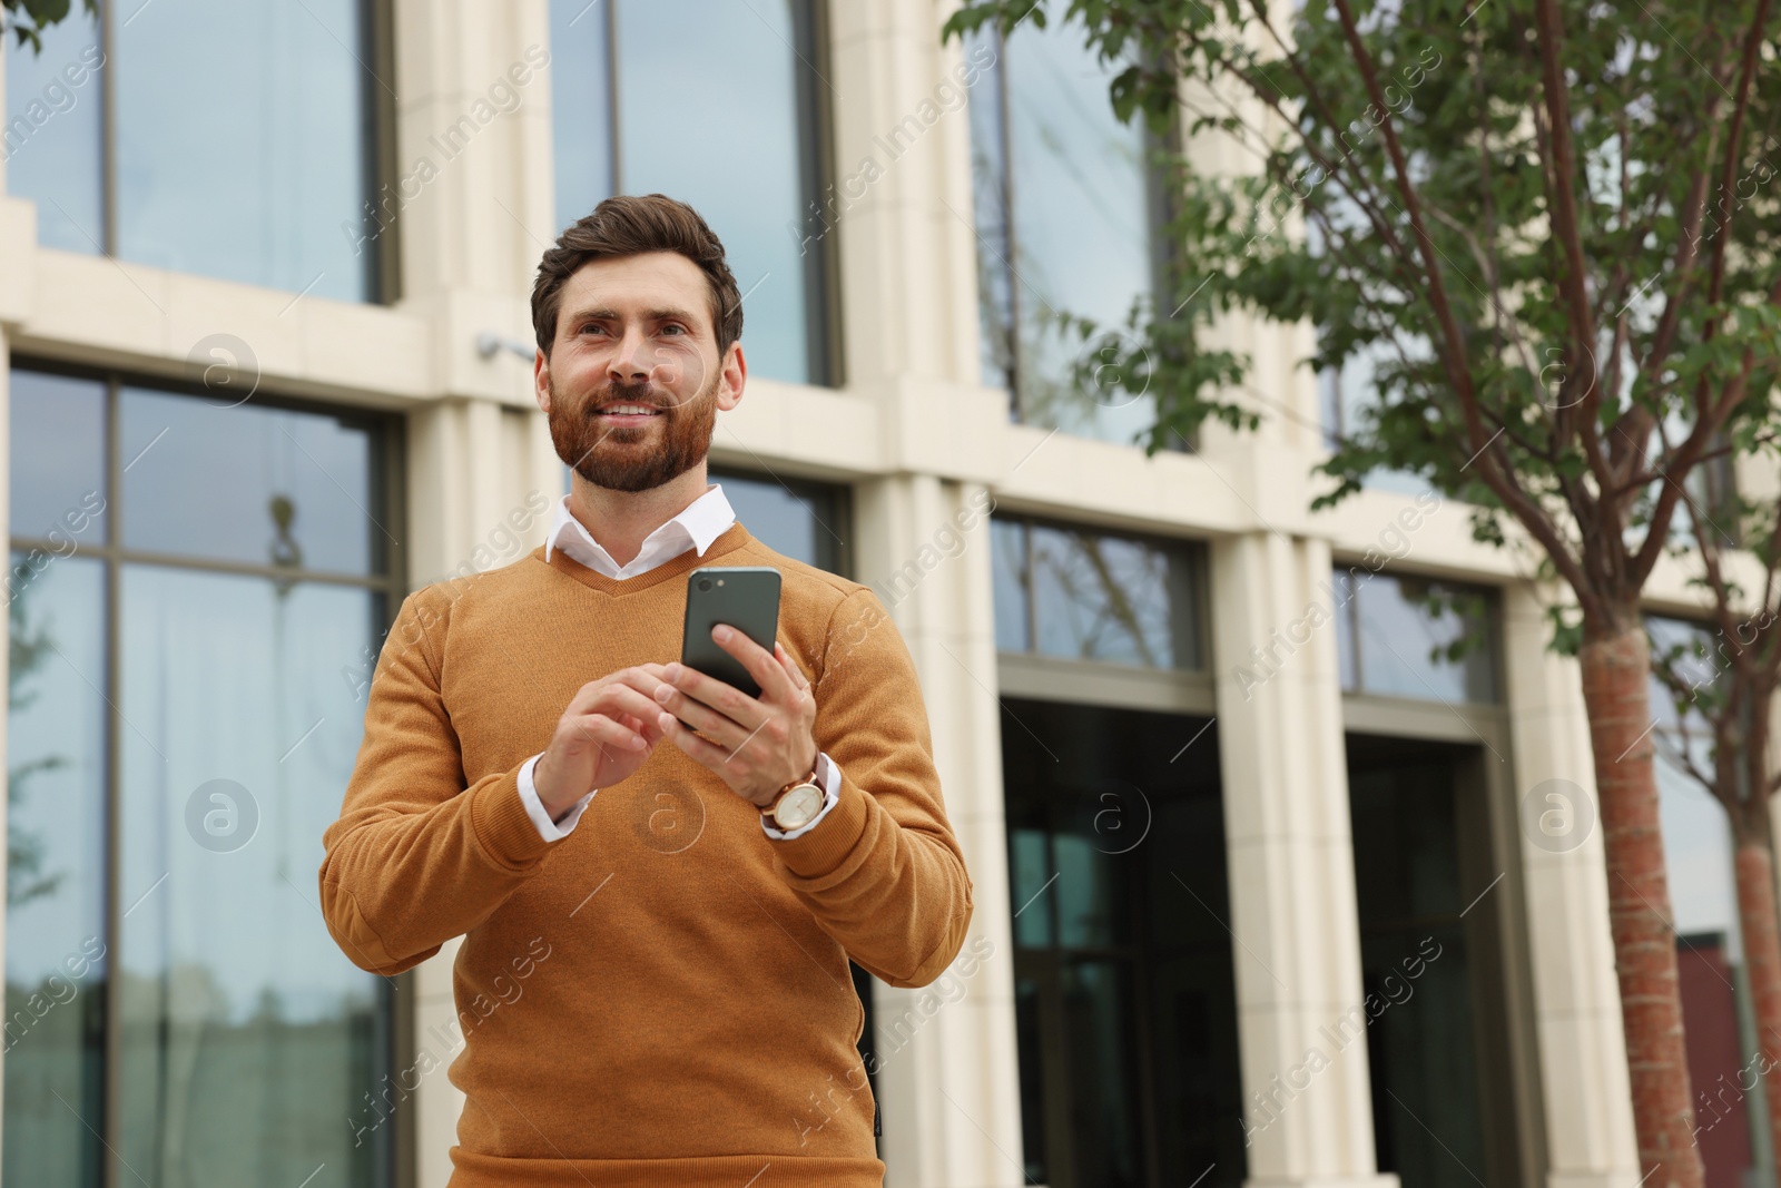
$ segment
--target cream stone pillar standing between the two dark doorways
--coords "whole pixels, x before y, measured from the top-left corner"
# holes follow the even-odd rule
[[[1366,1042],[1332,1038],[1362,990],[1329,543],[1245,533],[1211,570],[1248,1183],[1395,1186]],[[1279,657],[1259,684],[1252,645]]]

